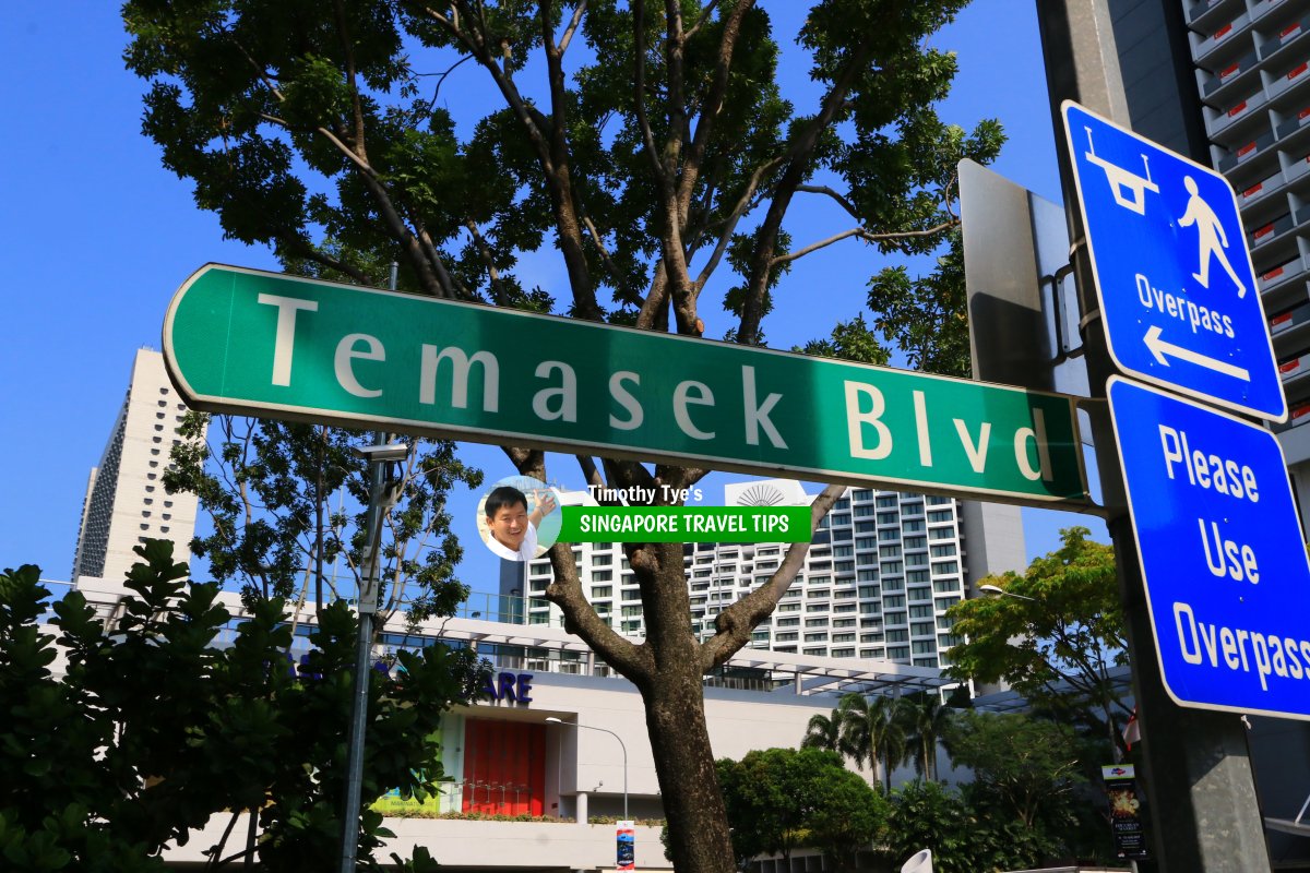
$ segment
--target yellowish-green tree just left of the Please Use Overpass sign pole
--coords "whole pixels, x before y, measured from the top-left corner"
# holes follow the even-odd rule
[[[1061,547],[1022,575],[988,577],[1014,597],[962,601],[947,611],[952,633],[947,673],[1007,682],[1036,707],[1077,719],[1127,751],[1116,726],[1131,709],[1111,678],[1128,662],[1115,555],[1086,527],[1060,531]]]

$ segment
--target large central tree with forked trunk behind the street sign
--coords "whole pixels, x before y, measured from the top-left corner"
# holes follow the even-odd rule
[[[417,293],[693,338],[717,322],[761,346],[796,259],[842,241],[883,255],[946,242],[956,162],[989,161],[1002,139],[994,122],[965,134],[931,109],[955,60],[927,37],[965,1],[820,0],[781,38],[755,0],[128,0],[123,16],[164,165],[228,236],[271,246],[288,270],[368,283],[394,259]],[[821,92],[812,105],[778,86],[793,41]],[[499,103],[456,119],[441,89],[474,75]],[[789,209],[811,198],[850,228],[793,246]],[[559,259],[559,288],[516,274],[528,253]],[[874,353],[872,330],[846,315],[831,348]],[[912,342],[876,314],[874,329]],[[540,450],[506,453],[549,479]],[[669,486],[656,500],[707,472],[579,461],[592,484]],[[815,501],[812,525],[840,491]],[[807,547],[703,643],[679,543],[625,546],[642,643],[596,615],[567,547],[550,552],[546,598],[643,695],[679,869],[731,859],[702,675],[749,641]]]

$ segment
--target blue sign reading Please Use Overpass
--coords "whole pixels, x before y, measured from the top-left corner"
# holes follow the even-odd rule
[[[1166,691],[1310,720],[1310,561],[1277,438],[1117,376],[1107,394]]]

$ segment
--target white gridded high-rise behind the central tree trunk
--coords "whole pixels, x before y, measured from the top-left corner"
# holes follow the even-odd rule
[[[592,503],[584,492],[565,504]],[[724,505],[808,505],[799,482],[765,479],[730,484]],[[625,636],[645,633],[641,592],[620,543],[578,543],[574,555],[587,597]],[[692,627],[713,633],[714,619],[768,581],[787,546],[688,543]],[[808,656],[893,661],[938,668],[955,644],[946,610],[975,580],[1027,565],[1017,507],[952,497],[852,488],[814,538],[804,567],[751,648]],[[502,594],[525,598],[529,624],[557,624],[559,611],[541,599],[550,561],[529,561],[524,576],[506,561]]]

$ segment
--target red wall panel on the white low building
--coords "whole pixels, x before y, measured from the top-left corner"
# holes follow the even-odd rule
[[[464,811],[541,815],[545,800],[546,725],[468,719]]]

